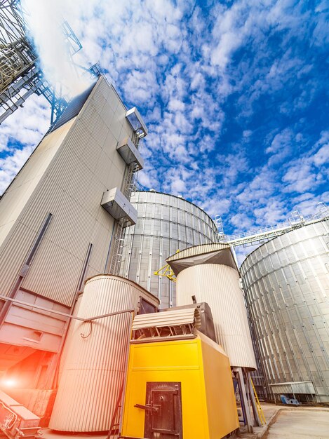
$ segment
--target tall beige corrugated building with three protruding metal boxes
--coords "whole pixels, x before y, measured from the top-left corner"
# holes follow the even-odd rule
[[[53,389],[69,323],[58,311],[72,313],[86,278],[116,270],[122,228],[137,217],[128,197],[145,134],[137,110],[101,76],[1,198],[0,375],[32,411]]]

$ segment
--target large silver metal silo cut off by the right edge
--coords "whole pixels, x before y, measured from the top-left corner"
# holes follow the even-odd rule
[[[328,251],[326,219],[264,243],[241,266],[271,399],[294,391],[329,402]]]

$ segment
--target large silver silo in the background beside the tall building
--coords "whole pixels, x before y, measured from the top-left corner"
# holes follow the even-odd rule
[[[130,198],[137,223],[126,229],[120,274],[159,297],[161,308],[175,306],[175,283],[154,271],[177,250],[218,241],[213,219],[179,196],[137,191]]]

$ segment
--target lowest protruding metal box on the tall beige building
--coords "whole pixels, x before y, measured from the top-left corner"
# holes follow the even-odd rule
[[[131,224],[136,224],[137,210],[117,187],[104,192],[100,204],[114,219],[124,218]]]

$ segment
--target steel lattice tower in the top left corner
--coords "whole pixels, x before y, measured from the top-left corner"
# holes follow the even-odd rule
[[[72,57],[81,43],[66,21],[61,27]],[[0,0],[0,124],[33,93],[51,104],[51,123],[67,107],[68,99],[43,76],[20,0]]]

